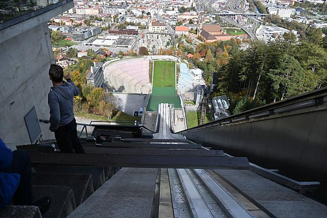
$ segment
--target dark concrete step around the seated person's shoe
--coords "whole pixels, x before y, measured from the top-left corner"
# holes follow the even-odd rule
[[[32,187],[33,202],[43,197],[50,197],[50,208],[42,215],[43,218],[66,217],[75,210],[75,197],[71,188],[58,185],[33,185]]]

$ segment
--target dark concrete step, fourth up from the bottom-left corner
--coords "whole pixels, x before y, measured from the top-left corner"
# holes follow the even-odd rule
[[[94,191],[105,182],[103,167],[92,166],[38,166],[37,173],[89,174],[92,176]]]

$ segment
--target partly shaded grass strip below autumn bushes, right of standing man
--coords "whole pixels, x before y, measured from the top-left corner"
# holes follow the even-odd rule
[[[108,119],[106,116],[92,114],[92,113],[82,113],[82,112],[74,112],[74,115],[77,117],[82,117],[85,119],[91,119],[91,120],[97,120],[97,121],[128,121],[128,122],[134,122],[141,121],[141,116],[131,116],[127,113],[124,113],[122,111],[118,111],[118,113],[112,117],[112,119]]]

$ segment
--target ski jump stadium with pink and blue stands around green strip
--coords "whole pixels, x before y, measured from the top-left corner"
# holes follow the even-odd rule
[[[150,63],[152,69],[149,69]],[[185,63],[178,63],[174,56],[148,56],[108,61],[104,64],[104,79],[106,87],[114,92],[151,93],[148,101],[149,111],[156,111],[158,103],[174,104],[176,108],[180,108],[178,94],[190,95],[197,86],[204,84],[194,77]],[[194,94],[192,97],[194,98]]]

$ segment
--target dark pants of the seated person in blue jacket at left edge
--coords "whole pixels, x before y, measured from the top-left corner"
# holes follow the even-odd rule
[[[13,160],[6,173],[20,175],[19,185],[13,197],[15,205],[32,205],[32,165],[29,154],[25,151],[12,152]]]

